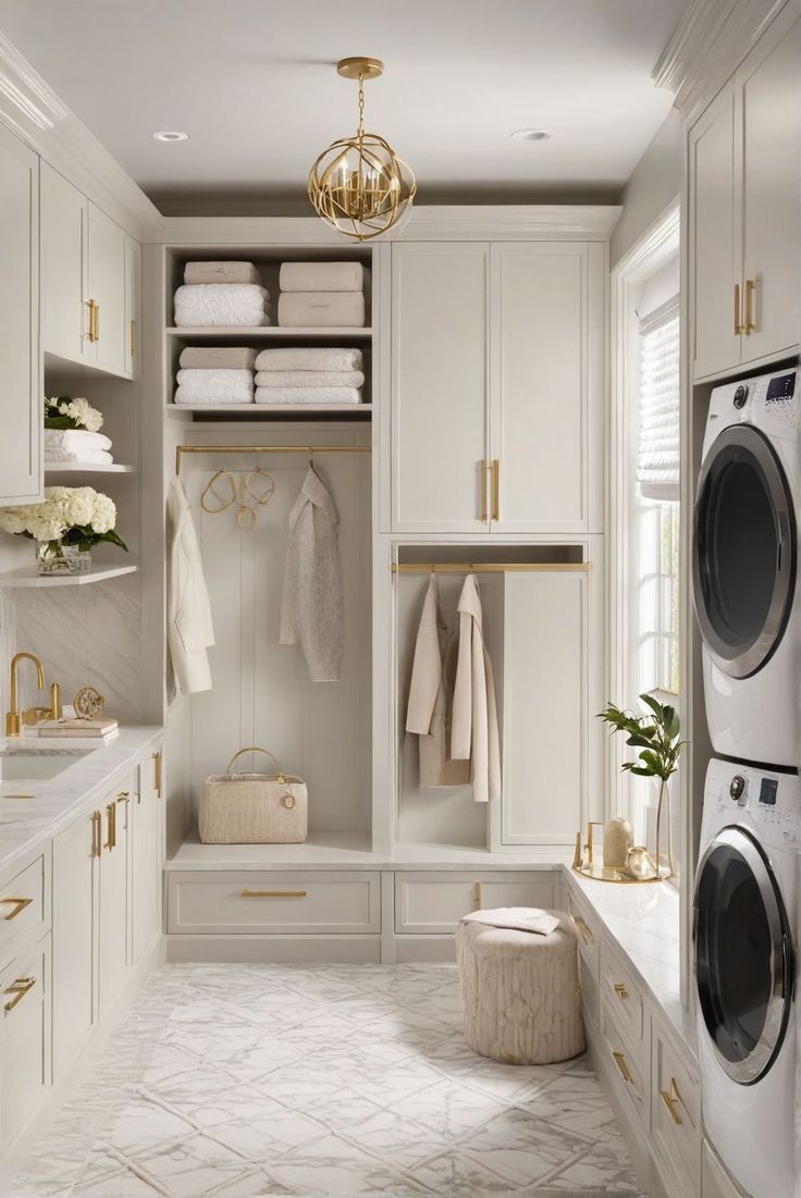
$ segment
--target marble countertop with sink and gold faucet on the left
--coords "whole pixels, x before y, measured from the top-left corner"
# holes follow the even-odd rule
[[[24,861],[40,843],[68,827],[80,807],[100,801],[158,742],[155,726],[120,728],[107,742],[64,737],[0,738],[0,872]],[[36,776],[41,757],[49,772],[55,758],[74,758],[52,778]]]

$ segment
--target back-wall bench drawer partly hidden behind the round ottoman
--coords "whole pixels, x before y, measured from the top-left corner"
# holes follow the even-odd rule
[[[454,932],[463,915],[494,907],[553,908],[558,873],[399,872],[395,876],[395,930],[426,936]]]

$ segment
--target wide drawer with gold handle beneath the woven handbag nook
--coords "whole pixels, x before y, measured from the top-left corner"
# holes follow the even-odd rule
[[[169,932],[381,931],[378,872],[170,873]]]

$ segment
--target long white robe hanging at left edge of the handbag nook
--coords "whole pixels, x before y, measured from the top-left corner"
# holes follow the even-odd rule
[[[183,484],[174,477],[167,496],[167,642],[179,695],[211,690],[209,648],[215,643],[203,555]]]

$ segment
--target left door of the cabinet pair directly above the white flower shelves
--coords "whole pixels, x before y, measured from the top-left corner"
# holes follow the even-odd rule
[[[86,214],[89,202],[42,163],[42,349],[80,362],[86,331]]]

